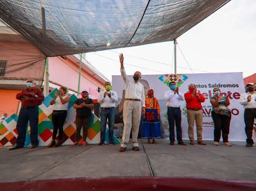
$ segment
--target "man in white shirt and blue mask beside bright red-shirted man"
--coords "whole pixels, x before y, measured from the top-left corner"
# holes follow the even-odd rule
[[[170,145],[174,145],[175,134],[174,134],[174,122],[176,124],[176,136],[178,140],[178,145],[186,146],[182,141],[182,130],[181,130],[181,111],[180,103],[184,100],[183,95],[179,92],[179,88],[176,87],[175,81],[169,83],[170,90],[164,93],[166,98],[167,106],[167,117],[169,122],[169,139]]]

